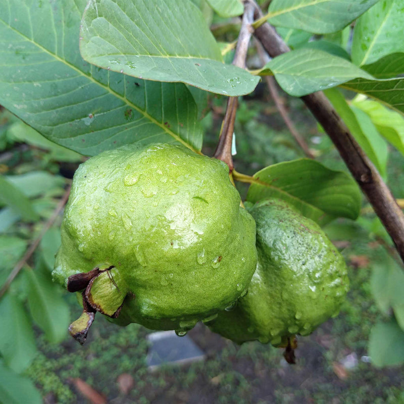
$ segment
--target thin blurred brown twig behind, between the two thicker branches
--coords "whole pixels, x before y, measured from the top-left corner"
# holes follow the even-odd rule
[[[258,56],[260,58],[261,63],[263,65],[268,63],[269,62],[269,57],[268,57],[267,53],[264,51],[264,49],[262,48],[261,43],[258,42],[258,41],[257,41],[257,51],[258,51]],[[310,159],[314,159],[314,155],[310,151],[309,146],[307,145],[305,139],[297,131],[296,127],[294,126],[292,120],[289,117],[289,114],[286,111],[285,106],[281,102],[278,90],[276,88],[274,78],[272,76],[265,76],[265,81],[267,82],[269,92],[271,93],[271,97],[274,100],[276,108],[278,109],[279,114],[282,117],[283,121],[285,122],[285,124],[286,124],[287,128],[289,129],[290,133],[292,134],[292,136],[296,140],[297,144],[305,152],[306,156],[309,157]]]

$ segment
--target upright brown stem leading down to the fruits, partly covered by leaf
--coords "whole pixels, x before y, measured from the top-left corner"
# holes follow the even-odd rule
[[[245,59],[247,57],[248,43],[251,38],[251,23],[254,21],[254,5],[245,2],[244,14],[241,22],[241,29],[237,39],[236,51],[234,54],[233,65],[245,68]],[[234,164],[231,156],[231,145],[233,143],[234,122],[238,106],[237,97],[229,97],[227,100],[226,113],[223,119],[222,131],[219,137],[219,143],[214,157],[224,161],[233,171]]]

